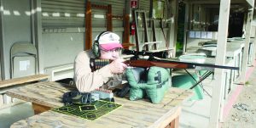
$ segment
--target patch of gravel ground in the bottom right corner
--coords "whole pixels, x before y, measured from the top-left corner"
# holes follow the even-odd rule
[[[243,86],[222,128],[256,128],[256,70]]]

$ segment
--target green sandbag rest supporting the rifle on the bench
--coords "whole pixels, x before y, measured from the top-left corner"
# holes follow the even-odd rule
[[[170,87],[170,71],[160,67],[129,68],[125,72],[131,86],[130,100],[147,97],[152,103],[160,103]]]

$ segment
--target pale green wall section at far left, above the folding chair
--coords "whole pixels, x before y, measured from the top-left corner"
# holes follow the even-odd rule
[[[10,78],[10,48],[15,42],[31,41],[30,0],[3,0],[3,63],[5,79]],[[2,69],[3,70],[3,69]]]

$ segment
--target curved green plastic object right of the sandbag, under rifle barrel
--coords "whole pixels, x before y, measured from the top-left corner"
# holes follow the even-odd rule
[[[199,81],[199,78],[197,75],[193,75],[196,81]],[[191,86],[193,86],[195,81],[190,75],[174,75],[172,76],[172,87],[178,87],[183,89],[189,89]],[[190,98],[190,100],[199,100],[203,99],[203,89],[200,85],[197,85],[193,88],[194,96]]]

